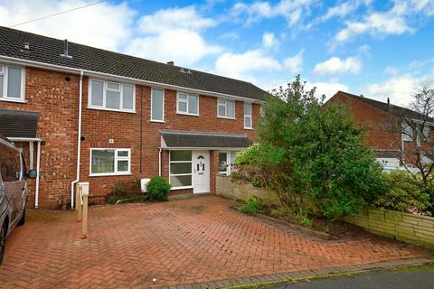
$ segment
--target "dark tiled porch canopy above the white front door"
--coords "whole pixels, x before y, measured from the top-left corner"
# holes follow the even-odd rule
[[[247,135],[160,130],[167,148],[176,147],[248,147]]]

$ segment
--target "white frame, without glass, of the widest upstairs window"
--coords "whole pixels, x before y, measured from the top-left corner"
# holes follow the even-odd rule
[[[92,105],[92,81],[100,81],[102,82],[102,107]],[[119,85],[119,89],[109,89],[108,83],[117,83]],[[133,108],[127,109],[123,108],[124,106],[124,86],[133,88]],[[109,111],[117,111],[117,112],[127,112],[127,113],[136,113],[136,85],[131,83],[118,82],[115,80],[104,80],[104,79],[89,79],[88,85],[88,108],[91,109],[99,109],[99,110],[109,110]],[[120,94],[120,102],[119,109],[116,108],[107,108],[106,107],[106,99],[107,99],[107,90],[119,92]]]

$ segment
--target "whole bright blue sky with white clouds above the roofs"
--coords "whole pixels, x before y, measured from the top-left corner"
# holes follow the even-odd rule
[[[0,0],[0,24],[96,0]],[[434,87],[434,0],[106,1],[15,27],[251,81],[272,89],[298,73],[406,105]]]

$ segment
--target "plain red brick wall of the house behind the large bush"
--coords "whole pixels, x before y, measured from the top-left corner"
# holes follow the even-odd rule
[[[367,129],[366,142],[375,151],[396,151],[401,145],[400,135],[388,132],[394,118],[382,109],[338,92],[327,103],[342,103],[348,107],[356,123]]]

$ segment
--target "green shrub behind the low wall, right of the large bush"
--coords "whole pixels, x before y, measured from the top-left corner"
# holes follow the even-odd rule
[[[383,172],[382,178],[385,186],[373,200],[373,206],[416,213],[429,208],[429,193],[421,192],[419,178],[403,171]]]

